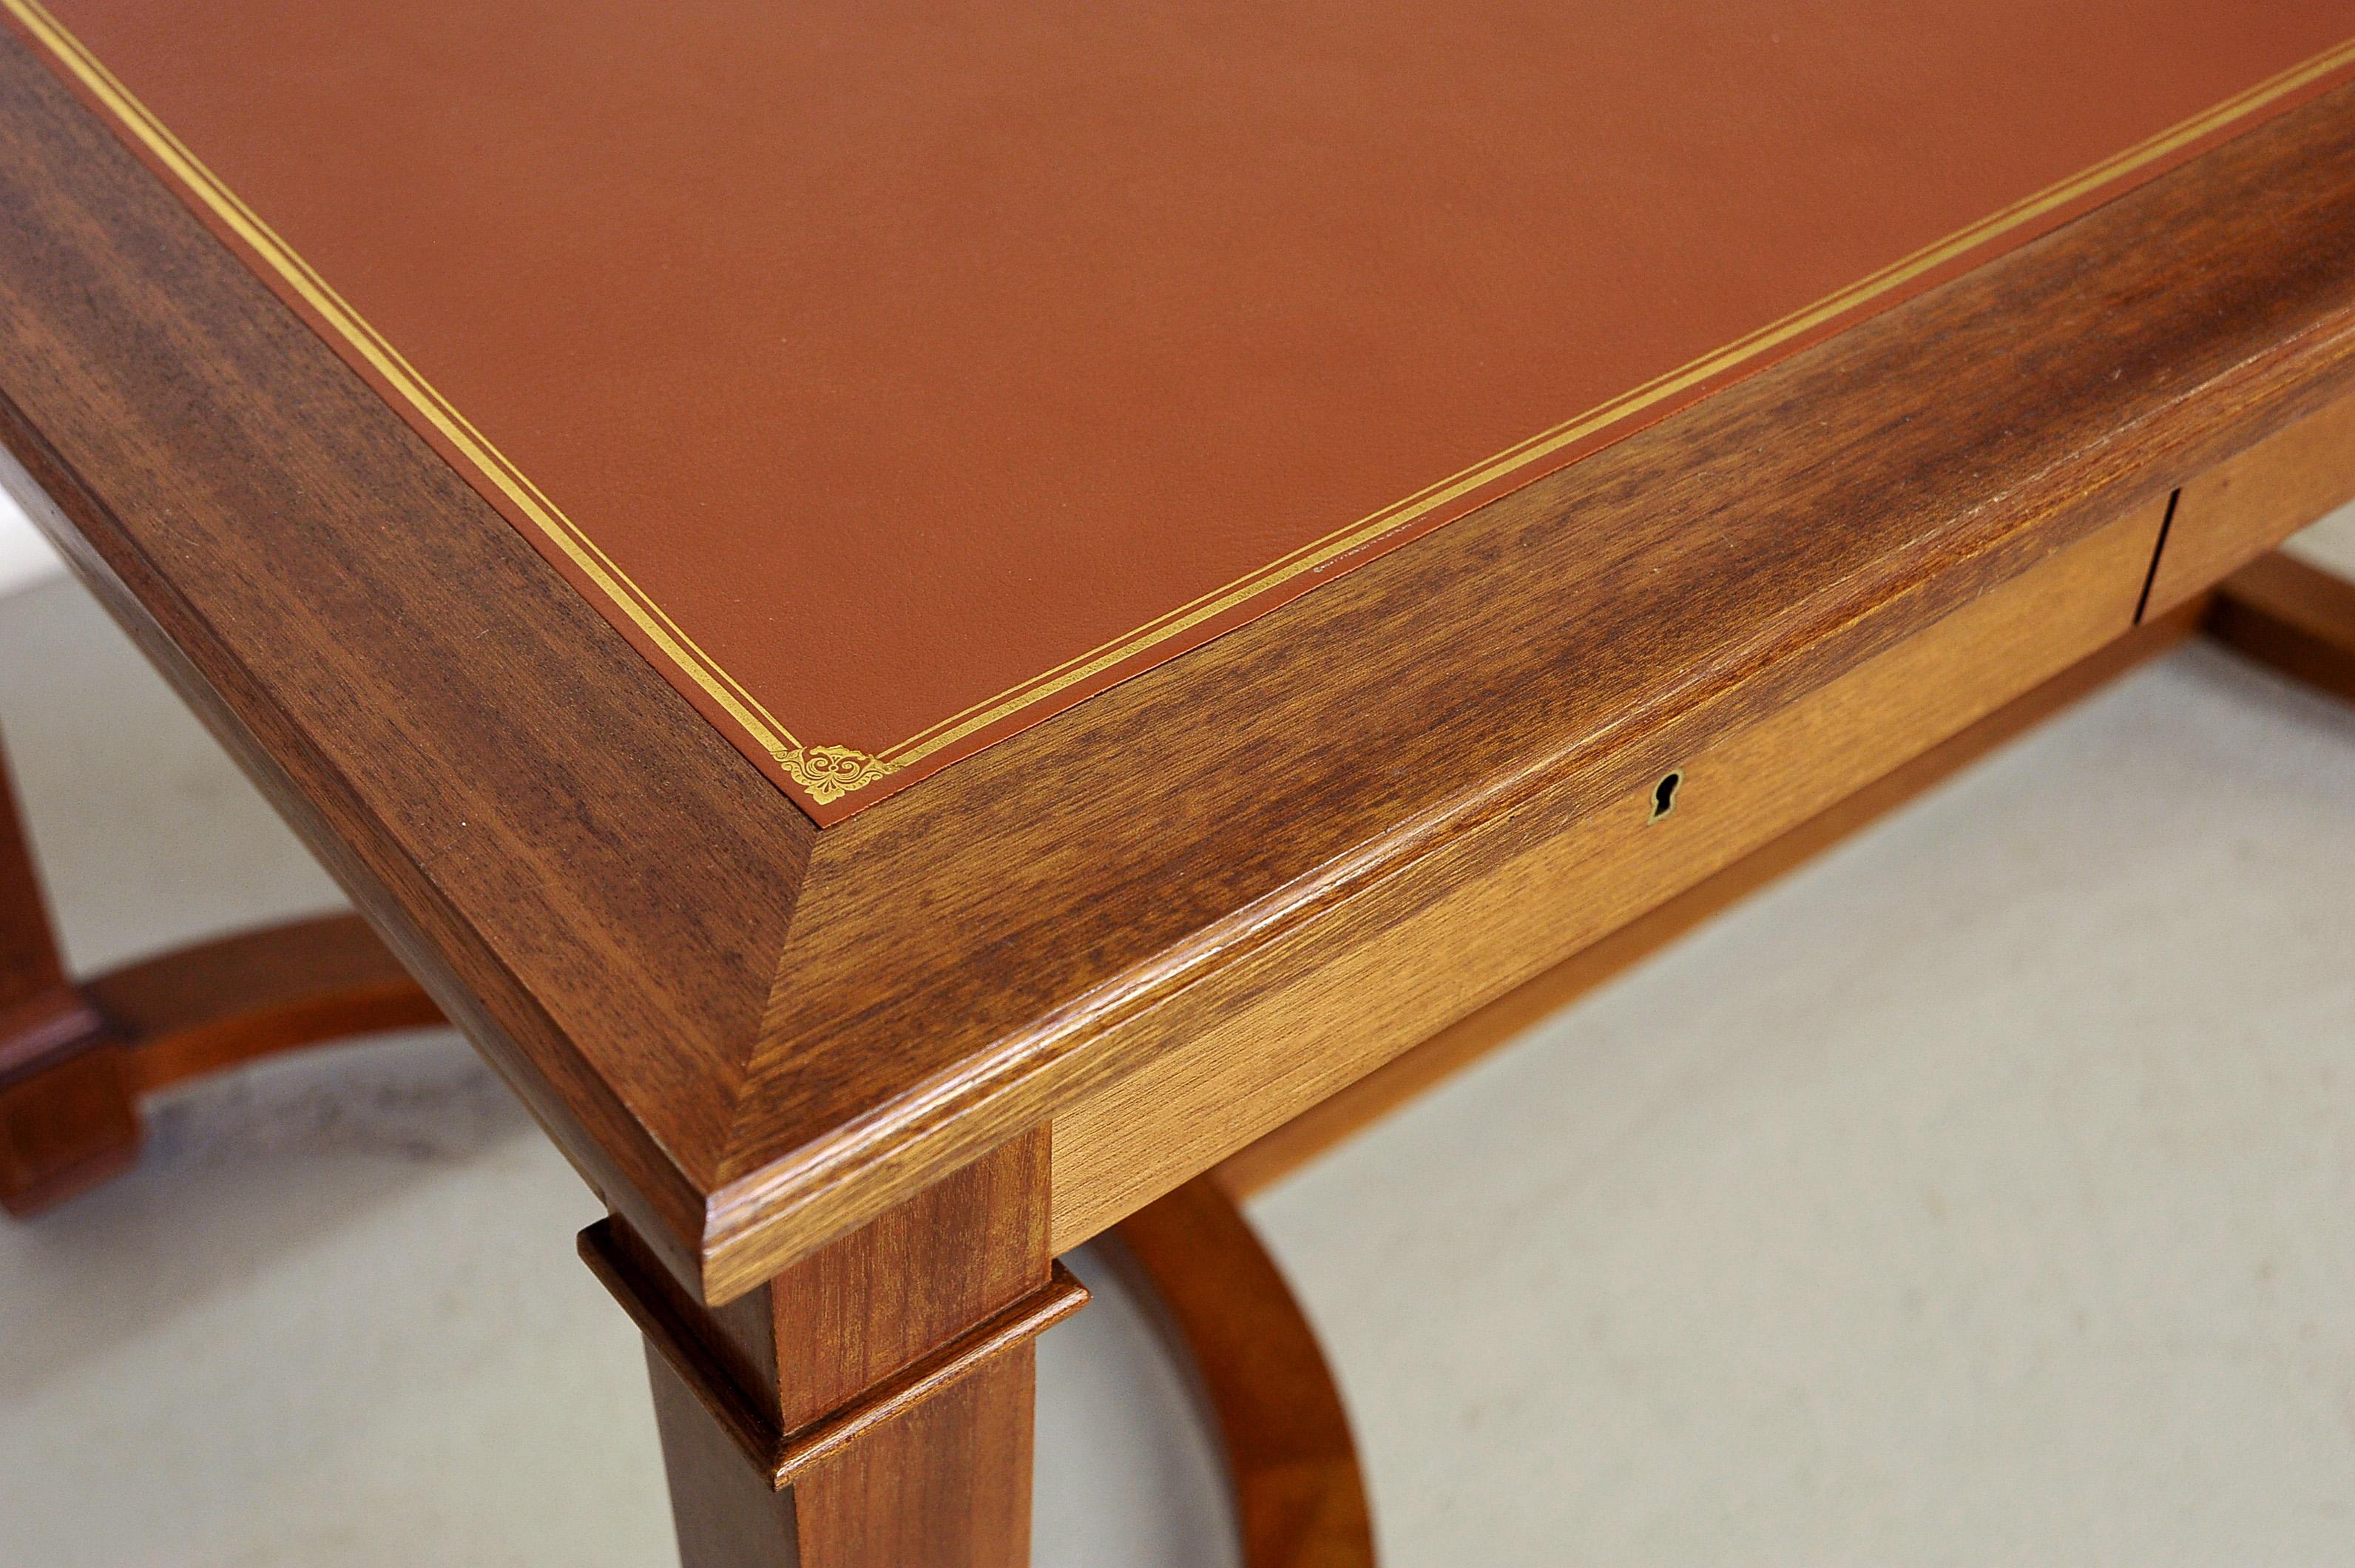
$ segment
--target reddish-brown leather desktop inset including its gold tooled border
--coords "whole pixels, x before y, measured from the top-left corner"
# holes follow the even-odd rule
[[[820,822],[2355,68],[2355,0],[0,2]]]

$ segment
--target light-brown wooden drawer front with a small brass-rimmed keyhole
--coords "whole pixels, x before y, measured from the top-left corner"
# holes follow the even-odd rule
[[[1321,916],[1309,968],[1246,958],[1203,982],[1218,1001],[1175,1005],[1163,1055],[1055,1118],[1055,1250],[2124,636],[2164,509],[1679,758],[1665,815],[1644,782],[1437,899],[1406,871]]]

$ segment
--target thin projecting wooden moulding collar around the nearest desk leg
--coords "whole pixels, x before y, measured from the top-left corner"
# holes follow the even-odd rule
[[[678,1373],[678,1380],[695,1391],[697,1401],[702,1401],[735,1446],[744,1450],[744,1457],[777,1490],[791,1486],[794,1476],[808,1467],[834,1457],[860,1436],[914,1410],[968,1373],[1027,1344],[1088,1304],[1088,1288],[1062,1262],[1055,1262],[1048,1283],[1020,1302],[975,1323],[956,1340],[867,1389],[867,1394],[848,1406],[829,1410],[794,1431],[777,1431],[777,1424],[744,1396],[721,1358],[704,1347],[702,1337],[669,1304],[669,1293],[662,1283],[638,1278],[631,1248],[615,1236],[615,1224],[610,1217],[598,1220],[579,1234],[582,1262],[589,1264],[589,1271],[612,1293],[645,1335],[645,1342]]]

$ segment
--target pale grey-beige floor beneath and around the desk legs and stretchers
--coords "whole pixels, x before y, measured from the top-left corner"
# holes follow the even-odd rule
[[[78,589],[0,725],[75,965],[339,902]],[[2350,1092],[2355,711],[2195,647],[1253,1212],[1397,1568],[2355,1563]],[[447,1034],[172,1097],[0,1224],[0,1563],[669,1561],[593,1217]],[[1039,1563],[1234,1561],[1109,1288],[1039,1457]]]

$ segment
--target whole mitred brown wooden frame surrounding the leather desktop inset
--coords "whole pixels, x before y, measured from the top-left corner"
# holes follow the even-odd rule
[[[709,1300],[2148,511],[2355,348],[2334,92],[812,831],[14,40],[0,212],[16,490]]]

